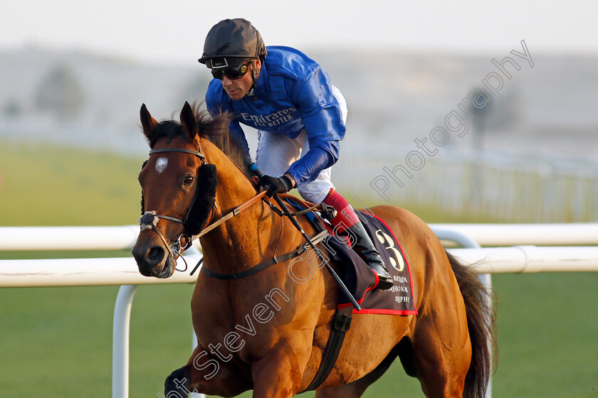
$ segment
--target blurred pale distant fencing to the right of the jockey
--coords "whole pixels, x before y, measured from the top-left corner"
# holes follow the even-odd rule
[[[343,144],[335,185],[352,192],[355,181],[377,181],[368,195],[379,203],[387,196],[394,205],[423,204],[455,214],[492,215],[501,222],[598,220],[595,163],[449,146],[439,148],[436,156],[422,158],[421,168],[411,168],[406,155],[417,149],[415,145]],[[394,171],[395,167],[399,168]]]

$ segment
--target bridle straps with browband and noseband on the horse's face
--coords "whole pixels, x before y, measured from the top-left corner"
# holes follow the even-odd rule
[[[194,156],[197,156],[201,159],[201,166],[199,166],[200,168],[207,164],[204,154],[201,153],[201,146],[199,147],[199,151],[194,151],[192,149],[182,149],[182,148],[152,149],[150,151],[150,156],[152,154],[159,154],[159,153],[164,153],[164,152],[182,152],[184,154],[192,154]],[[195,193],[193,195],[193,200],[191,201],[191,205],[189,205],[189,208],[187,209],[187,214],[185,214],[185,216],[183,218],[171,217],[169,215],[159,215],[154,210],[151,210],[151,211],[145,211],[145,213],[139,219],[139,225],[141,227],[141,230],[142,231],[150,230],[150,229],[154,230],[154,232],[156,232],[156,234],[160,237],[162,242],[164,242],[164,247],[166,247],[169,257],[171,257],[172,261],[174,261],[174,262],[176,262],[177,259],[180,257],[181,253],[184,252],[185,250],[189,249],[189,247],[191,247],[191,245],[193,243],[193,234],[190,233],[189,231],[187,231],[187,226],[188,226],[188,221],[189,221],[189,215],[192,213],[192,209],[193,209],[193,207],[195,205],[195,201],[197,199],[197,193],[199,192],[199,183],[201,183],[201,181],[197,181],[197,187],[196,187]],[[216,205],[215,201],[214,201],[214,205]],[[211,213],[214,214],[214,211],[212,210]],[[179,222],[180,224],[184,225],[184,227],[185,227],[186,233],[183,233],[181,236],[179,236],[179,239],[177,239],[176,242],[172,243],[170,247],[168,246],[166,238],[164,238],[164,235],[162,235],[162,232],[160,232],[157,228],[158,220],[160,218],[162,218],[163,220]],[[182,244],[183,239],[187,240],[187,243],[184,244],[184,246]],[[182,257],[182,258],[184,260],[184,257]],[[185,262],[185,269],[183,269],[183,270],[177,269],[177,271],[187,271],[187,262]]]

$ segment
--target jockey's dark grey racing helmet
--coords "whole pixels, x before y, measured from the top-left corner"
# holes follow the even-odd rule
[[[243,18],[224,19],[212,26],[199,58],[208,68],[234,68],[241,63],[266,58],[266,45],[260,33]]]

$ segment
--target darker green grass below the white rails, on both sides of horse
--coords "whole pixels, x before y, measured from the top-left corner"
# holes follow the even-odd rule
[[[598,274],[503,274],[493,282],[500,299],[494,397],[596,397]],[[0,390],[16,397],[109,396],[116,293],[115,286],[0,289],[0,352],[10,364]],[[189,285],[137,289],[130,397],[155,397],[189,357],[191,293]],[[423,394],[397,362],[364,396]]]

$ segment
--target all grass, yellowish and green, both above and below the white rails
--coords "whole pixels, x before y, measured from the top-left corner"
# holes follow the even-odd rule
[[[133,224],[140,211],[136,178],[142,160],[0,142],[0,225]],[[426,222],[481,221],[406,207]],[[0,252],[0,259],[82,255],[129,254]],[[493,284],[500,303],[493,396],[598,397],[598,273],[499,274]],[[0,289],[1,396],[109,397],[117,289]],[[187,361],[191,294],[190,285],[137,289],[130,397],[156,397],[169,372]],[[397,362],[365,397],[423,394]]]

